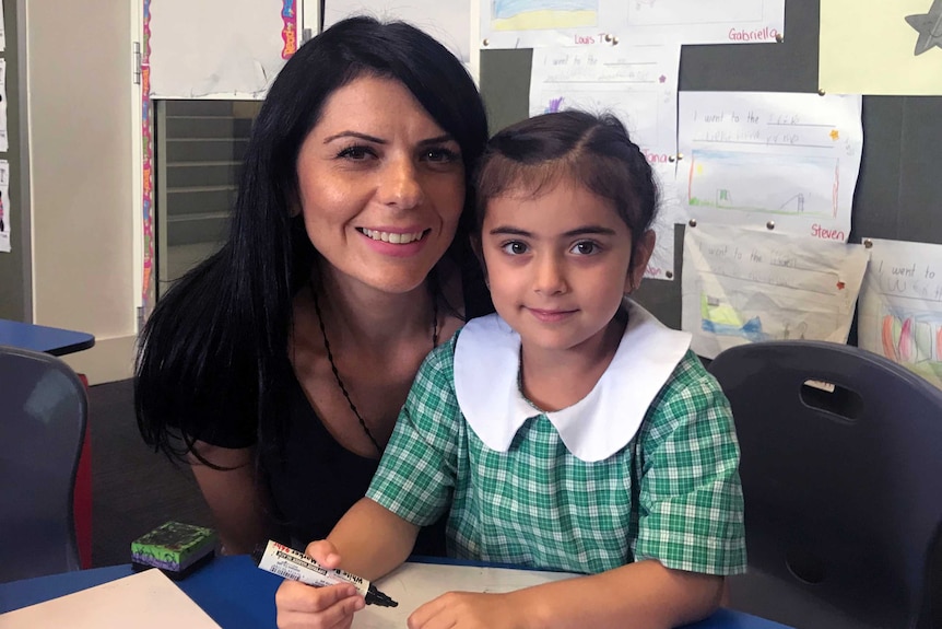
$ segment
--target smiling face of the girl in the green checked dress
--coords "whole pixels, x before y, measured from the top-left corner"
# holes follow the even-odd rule
[[[491,296],[525,351],[594,351],[653,248],[611,201],[563,180],[539,197],[515,190],[487,203],[481,253]]]

